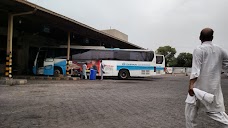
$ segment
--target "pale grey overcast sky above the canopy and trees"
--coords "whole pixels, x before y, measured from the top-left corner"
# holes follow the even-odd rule
[[[211,27],[214,43],[228,51],[228,0],[29,1],[98,30],[117,29],[152,50],[170,45],[192,53],[200,31]]]

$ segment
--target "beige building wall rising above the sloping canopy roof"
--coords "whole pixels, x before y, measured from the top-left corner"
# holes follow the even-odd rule
[[[128,35],[116,29],[108,29],[108,30],[101,30],[101,31],[128,42]]]

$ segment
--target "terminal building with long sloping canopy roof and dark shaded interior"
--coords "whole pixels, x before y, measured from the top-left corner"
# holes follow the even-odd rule
[[[32,74],[36,52],[44,46],[143,49],[118,30],[97,30],[26,0],[1,0],[0,17],[1,76]]]

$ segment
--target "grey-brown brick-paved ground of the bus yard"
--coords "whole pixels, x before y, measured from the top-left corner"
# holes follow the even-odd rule
[[[228,105],[228,79],[222,80]],[[1,128],[184,128],[188,77],[0,86]],[[228,108],[228,107],[227,107]],[[217,128],[205,113],[199,128]]]

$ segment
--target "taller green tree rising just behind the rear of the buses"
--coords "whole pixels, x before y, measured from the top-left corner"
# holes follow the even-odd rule
[[[170,62],[175,61],[174,55],[176,54],[176,52],[177,52],[176,49],[172,48],[171,46],[159,47],[156,51],[157,54],[161,54],[165,56],[166,66],[170,66]]]

